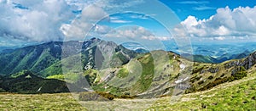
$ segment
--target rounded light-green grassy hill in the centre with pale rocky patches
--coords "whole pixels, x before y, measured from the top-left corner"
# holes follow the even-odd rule
[[[166,59],[163,59],[165,57]],[[129,64],[125,64],[119,68],[111,69],[115,70],[115,77],[108,81],[108,83],[101,82],[100,84],[94,86],[94,89],[98,92],[110,92],[118,96],[124,93],[130,93],[131,96],[135,96],[137,94],[148,95],[148,93],[154,94],[159,90],[161,93],[164,93],[166,87],[170,87],[164,83],[170,81],[169,79],[174,78],[180,70],[177,64],[177,59],[174,60],[172,58],[172,53],[167,54],[160,51],[154,53],[154,58],[150,53],[143,54],[141,57],[137,57],[131,60]],[[154,59],[159,60],[154,61]],[[169,59],[170,61],[168,61]],[[173,65],[173,68],[171,68],[171,64]],[[167,65],[169,66],[167,67]],[[130,72],[126,72],[128,69]],[[171,72],[172,75],[170,75]],[[108,72],[107,74],[110,73]],[[100,75],[102,78],[107,76],[105,73]],[[107,89],[104,88],[105,86],[107,86]],[[158,86],[160,86],[160,88],[158,88]],[[152,95],[148,96],[153,97]]]

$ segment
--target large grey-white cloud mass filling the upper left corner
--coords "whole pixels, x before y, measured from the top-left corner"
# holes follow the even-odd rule
[[[3,0],[0,36],[32,42],[61,41],[59,27],[74,18],[64,0]]]

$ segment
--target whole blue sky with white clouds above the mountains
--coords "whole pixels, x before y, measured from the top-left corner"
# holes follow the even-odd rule
[[[0,0],[0,47],[114,42],[255,42],[256,0]]]

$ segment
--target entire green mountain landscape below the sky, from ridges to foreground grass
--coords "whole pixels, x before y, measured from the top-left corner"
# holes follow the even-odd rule
[[[248,108],[255,106],[255,52],[246,58],[209,64],[199,62],[212,61],[202,55],[182,57],[163,50],[138,53],[114,42],[92,38],[85,42],[49,42],[23,47],[1,53],[0,58],[9,58],[4,59],[0,69],[1,104],[6,109],[15,105],[9,100],[17,97],[26,100],[20,106],[37,101],[24,109],[39,110],[53,106],[56,110],[70,107],[90,110],[98,105],[102,106],[99,110],[179,107],[218,110],[218,106],[232,103],[233,99],[238,102],[232,105],[241,108],[243,103]],[[229,92],[231,97],[224,92]],[[219,96],[227,101],[218,102]],[[48,100],[48,97],[55,99]],[[50,102],[53,104],[47,106]]]

